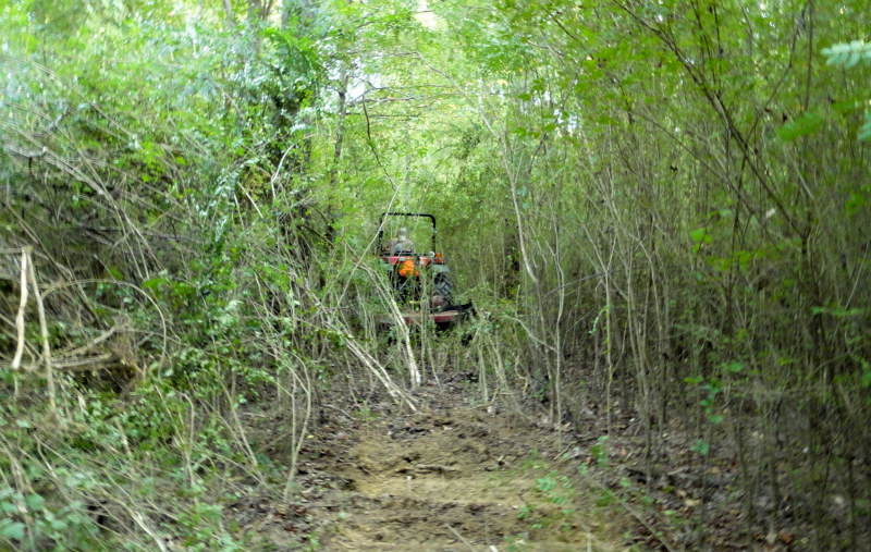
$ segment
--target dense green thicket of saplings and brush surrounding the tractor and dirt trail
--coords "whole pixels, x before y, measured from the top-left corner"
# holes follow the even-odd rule
[[[331,390],[445,368],[691,474],[687,547],[868,541],[863,2],[78,4],[0,8],[3,547],[246,550]],[[487,316],[378,332],[388,210]]]

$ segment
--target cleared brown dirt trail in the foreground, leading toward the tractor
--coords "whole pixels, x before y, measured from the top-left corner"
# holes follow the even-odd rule
[[[649,550],[637,520],[597,504],[552,427],[457,391],[420,390],[415,413],[327,405],[284,515],[299,526],[283,530],[324,552]]]

